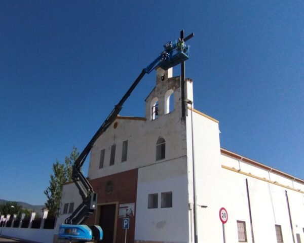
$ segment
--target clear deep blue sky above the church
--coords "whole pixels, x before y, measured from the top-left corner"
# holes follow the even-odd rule
[[[221,146],[304,179],[303,13],[302,1],[1,1],[0,198],[44,204],[56,158],[82,151],[181,29],[195,33],[195,108],[219,120]],[[154,85],[152,72],[121,114],[144,116]]]

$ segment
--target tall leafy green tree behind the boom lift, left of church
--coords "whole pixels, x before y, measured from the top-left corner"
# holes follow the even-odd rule
[[[72,181],[72,169],[75,160],[78,158],[79,152],[73,146],[72,152],[69,156],[65,156],[64,164],[60,164],[59,160],[53,164],[53,174],[50,175],[50,185],[44,191],[47,196],[45,203],[49,210],[49,215],[55,217],[60,208],[60,200],[62,195],[63,184]]]

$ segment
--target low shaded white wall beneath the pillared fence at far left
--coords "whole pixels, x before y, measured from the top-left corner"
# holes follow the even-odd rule
[[[4,227],[2,229],[2,235],[42,243],[52,243],[54,229],[27,229]]]

